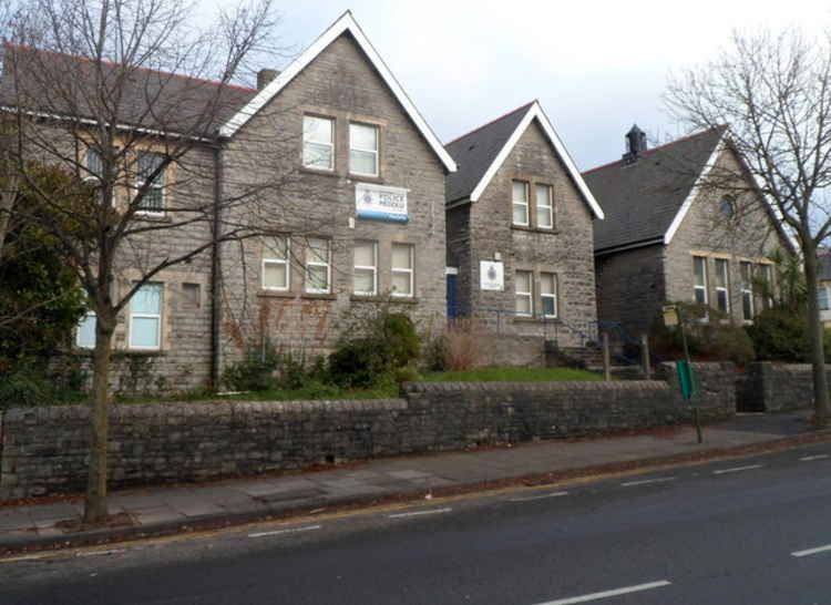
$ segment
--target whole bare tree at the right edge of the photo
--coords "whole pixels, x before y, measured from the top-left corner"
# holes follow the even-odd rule
[[[808,287],[814,422],[825,427],[817,252],[831,234],[831,37],[811,40],[792,29],[733,33],[716,59],[671,78],[666,101],[693,127],[729,125],[743,165],[711,171],[704,186],[758,187],[794,235]]]

